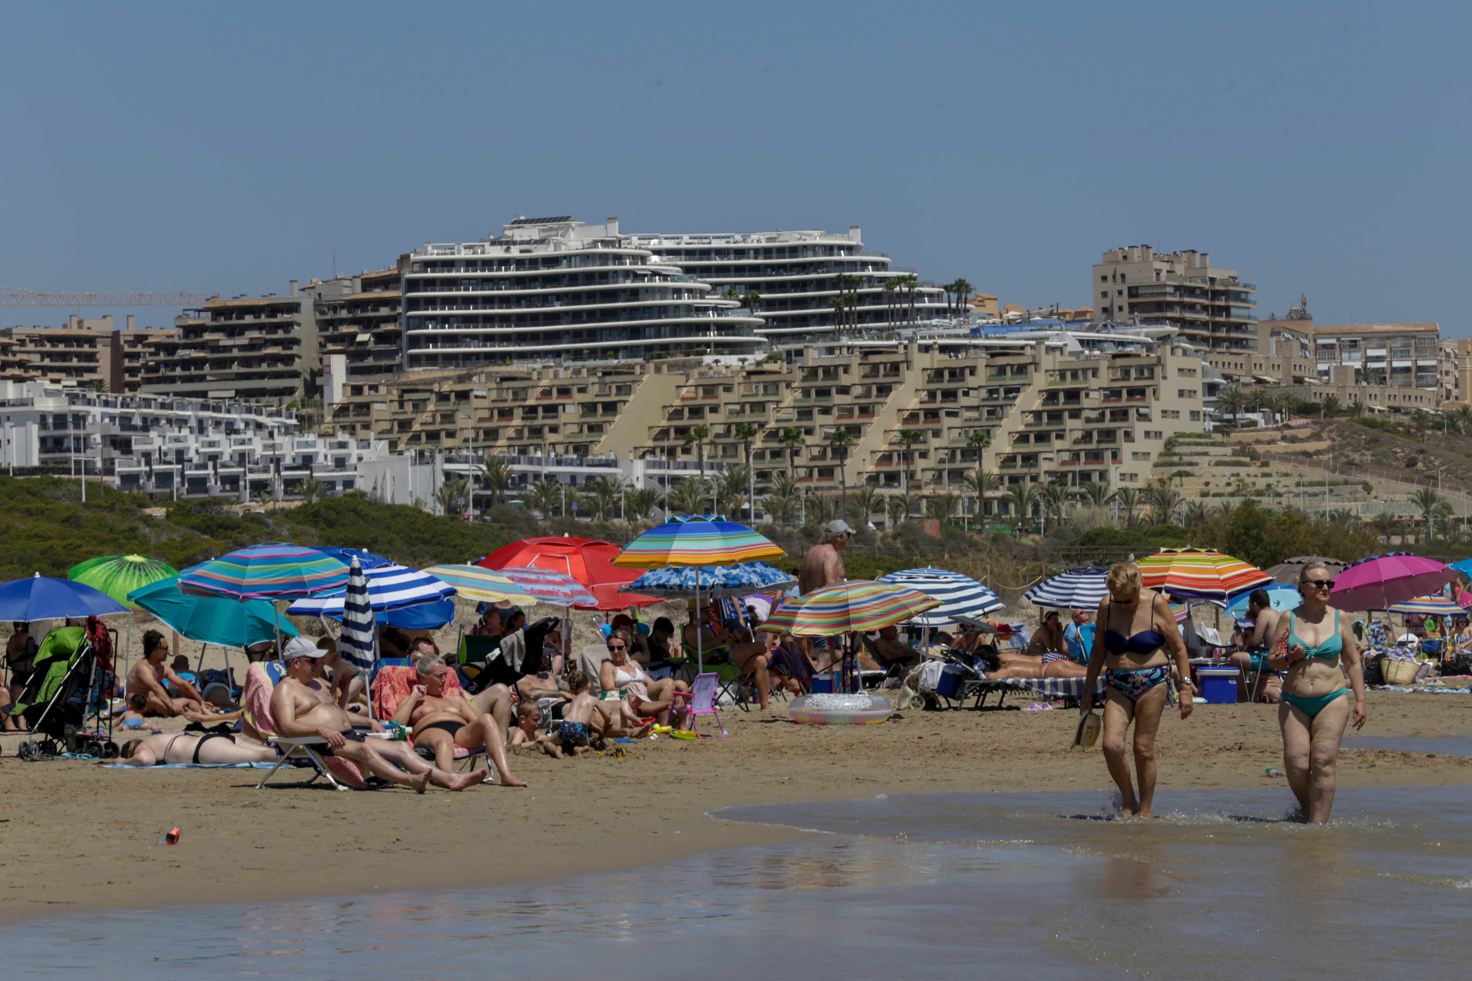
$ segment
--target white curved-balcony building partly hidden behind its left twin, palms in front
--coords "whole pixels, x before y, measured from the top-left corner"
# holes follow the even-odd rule
[[[885,282],[911,269],[895,269],[889,256],[864,249],[860,228],[830,235],[823,231],[627,235],[659,260],[710,282],[717,296],[745,297],[755,290],[758,332],[774,344],[824,340],[843,328],[830,306],[835,297],[857,297],[842,319],[848,329],[888,331],[945,316],[944,290],[916,282],[911,290],[886,291]],[[839,275],[858,278],[841,288]]]

